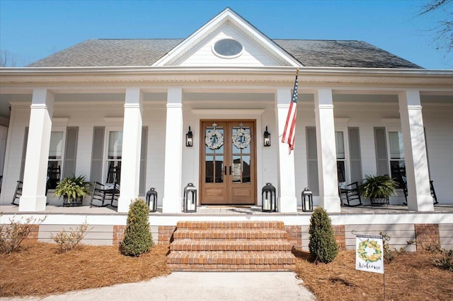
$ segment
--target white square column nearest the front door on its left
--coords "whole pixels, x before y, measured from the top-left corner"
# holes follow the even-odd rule
[[[165,137],[164,213],[180,213],[183,164],[183,89],[168,88]]]

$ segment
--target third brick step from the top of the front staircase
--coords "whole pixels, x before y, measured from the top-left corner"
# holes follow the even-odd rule
[[[287,240],[175,240],[171,252],[291,252]]]

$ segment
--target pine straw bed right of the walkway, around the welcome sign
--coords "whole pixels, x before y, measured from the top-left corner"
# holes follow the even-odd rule
[[[330,264],[294,252],[296,272],[318,300],[384,300],[383,275],[355,269],[355,252],[340,251]],[[405,252],[384,266],[386,300],[453,300],[453,273],[432,264],[428,252]]]

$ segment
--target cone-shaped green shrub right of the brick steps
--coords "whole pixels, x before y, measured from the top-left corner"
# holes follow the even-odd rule
[[[338,255],[331,218],[323,208],[315,208],[310,218],[309,251],[314,262],[328,264]]]

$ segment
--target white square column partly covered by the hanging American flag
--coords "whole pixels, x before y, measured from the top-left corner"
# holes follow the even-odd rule
[[[291,88],[277,88],[278,122],[278,208],[282,213],[297,212],[296,179],[294,173],[294,151],[289,153],[287,143],[281,142],[292,94]],[[296,143],[296,142],[294,142]]]

